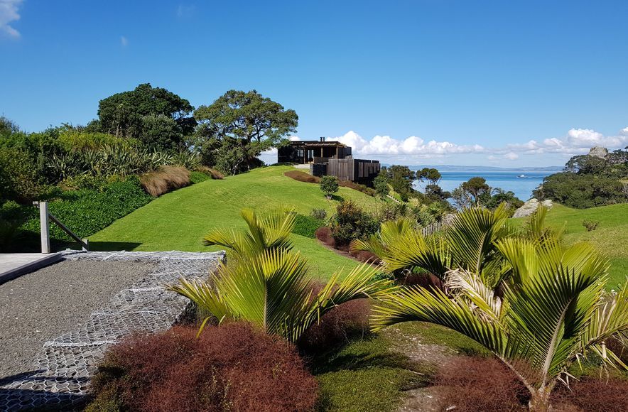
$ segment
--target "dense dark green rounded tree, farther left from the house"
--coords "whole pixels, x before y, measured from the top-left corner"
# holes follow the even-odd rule
[[[134,137],[149,146],[175,148],[191,134],[194,107],[188,100],[149,83],[102,99],[97,126],[105,133]]]

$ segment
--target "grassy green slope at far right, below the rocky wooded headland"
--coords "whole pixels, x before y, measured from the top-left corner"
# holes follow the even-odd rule
[[[521,222],[523,218],[516,219]],[[600,226],[587,232],[584,220],[600,222]],[[623,284],[628,277],[628,204],[571,209],[554,205],[548,211],[546,223],[557,228],[565,227],[565,242],[591,242],[606,254],[611,262],[608,288]]]

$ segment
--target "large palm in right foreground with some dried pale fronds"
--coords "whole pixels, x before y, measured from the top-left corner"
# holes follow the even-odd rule
[[[445,235],[447,244],[429,244],[415,234],[412,242],[389,247],[384,261],[391,266],[448,268],[440,273],[446,290],[387,294],[374,310],[374,330],[418,320],[467,335],[519,377],[535,411],[548,408],[553,387],[568,384],[568,367],[588,352],[626,368],[605,346],[611,337],[628,334],[628,288],[605,294],[608,261],[587,244],[563,246],[542,228],[544,210],[524,234],[489,213],[461,212]]]

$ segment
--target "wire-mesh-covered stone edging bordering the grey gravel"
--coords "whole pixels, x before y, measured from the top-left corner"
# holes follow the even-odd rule
[[[107,347],[133,332],[167,330],[185,315],[190,301],[163,285],[181,276],[205,279],[224,256],[224,252],[63,252],[63,259],[146,261],[156,269],[94,311],[85,325],[45,342],[28,371],[1,381],[0,411],[80,405]]]

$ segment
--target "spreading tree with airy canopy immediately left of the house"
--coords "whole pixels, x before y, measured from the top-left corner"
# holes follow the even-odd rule
[[[296,131],[298,116],[292,109],[256,90],[229,90],[209,106],[194,112],[198,121],[195,145],[207,166],[219,166],[225,146],[239,153],[226,173],[239,173],[256,165],[262,151],[278,146]]]

